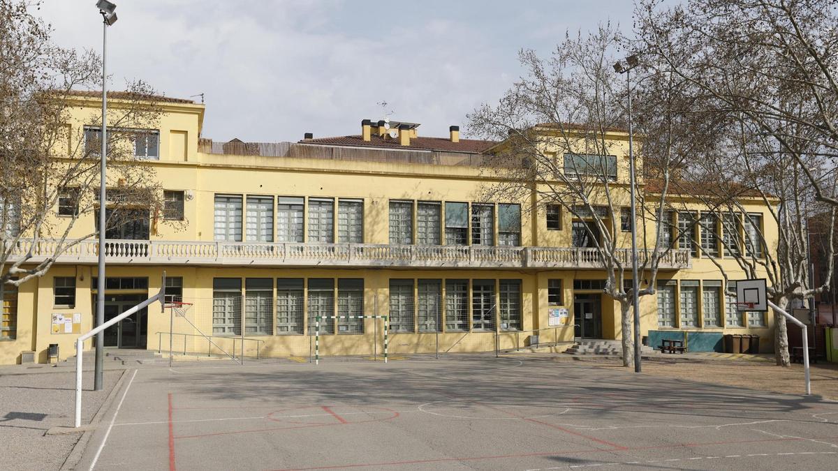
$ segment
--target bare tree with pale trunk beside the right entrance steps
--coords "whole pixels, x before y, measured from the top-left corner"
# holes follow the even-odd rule
[[[571,228],[573,245],[587,247],[589,261],[602,267],[607,281],[604,293],[620,304],[623,365],[634,364],[632,343],[632,289],[639,296],[654,294],[660,261],[671,257],[670,230],[665,220],[665,201],[669,194],[670,170],[678,166],[681,153],[673,152],[672,142],[677,101],[669,78],[647,80],[655,88],[654,116],[641,126],[655,132],[659,141],[654,149],[656,170],[654,192],[642,198],[651,211],[638,211],[639,277],[630,282],[631,252],[628,239],[621,235],[623,211],[629,206],[625,85],[613,70],[621,39],[610,25],[601,26],[587,36],[566,35],[549,60],[534,51],[520,53],[526,75],[500,99],[496,106],[484,105],[469,119],[469,130],[482,137],[504,141],[494,151],[493,168],[499,183],[487,189],[494,197],[535,199],[537,207],[558,204],[576,220]],[[644,107],[649,109],[652,102]],[[646,153],[644,152],[644,155]],[[642,194],[642,192],[638,192]],[[654,234],[646,234],[647,222]],[[626,270],[629,270],[628,277]],[[644,286],[645,283],[645,286]]]

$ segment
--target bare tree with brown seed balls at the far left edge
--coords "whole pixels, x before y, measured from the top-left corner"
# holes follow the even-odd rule
[[[30,13],[36,6],[0,0],[0,290],[43,276],[57,257],[97,234],[96,227],[74,228],[98,210],[101,115],[82,116],[89,126],[75,132],[70,123],[79,117],[72,99],[96,97],[78,90],[101,86],[101,60],[53,44],[49,26]],[[153,168],[135,158],[137,140],[158,127],[160,108],[143,82],[111,99],[107,227],[116,227],[142,213],[129,209],[147,217],[161,207]],[[33,263],[36,249],[48,256]]]

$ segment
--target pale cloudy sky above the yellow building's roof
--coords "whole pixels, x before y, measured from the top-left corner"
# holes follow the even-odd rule
[[[58,44],[101,51],[95,3],[44,0],[39,13]],[[111,90],[143,79],[166,96],[204,93],[203,136],[251,142],[357,134],[391,111],[445,136],[509,88],[519,49],[546,55],[568,30],[630,27],[632,13],[630,0],[115,3]]]

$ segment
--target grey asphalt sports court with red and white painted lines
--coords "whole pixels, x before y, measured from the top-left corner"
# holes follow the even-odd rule
[[[128,370],[78,468],[836,467],[835,402],[464,355]]]

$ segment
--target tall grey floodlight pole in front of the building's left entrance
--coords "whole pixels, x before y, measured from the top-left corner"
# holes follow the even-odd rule
[[[96,2],[96,8],[102,15],[102,132],[101,153],[99,154],[99,278],[96,280],[96,326],[105,323],[105,169],[107,161],[107,73],[105,68],[107,27],[116,23],[116,4],[107,0]],[[96,372],[93,390],[100,391],[103,384],[105,366],[105,333],[96,334]]]

